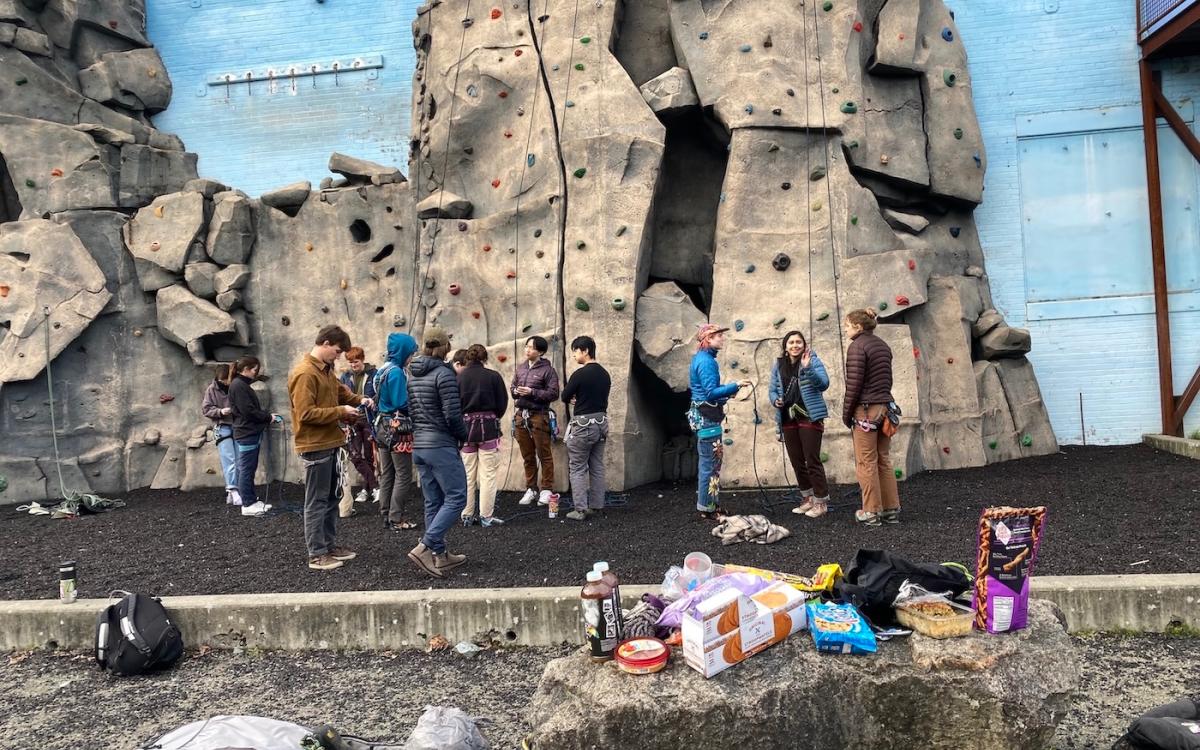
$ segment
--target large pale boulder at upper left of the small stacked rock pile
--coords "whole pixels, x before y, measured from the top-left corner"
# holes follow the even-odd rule
[[[204,196],[173,193],[156,198],[125,227],[125,244],[134,258],[179,274],[192,242],[204,229]]]

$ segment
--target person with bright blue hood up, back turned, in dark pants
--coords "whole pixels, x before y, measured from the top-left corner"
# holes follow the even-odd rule
[[[408,334],[388,336],[388,361],[376,371],[376,407],[388,419],[397,412],[408,414],[408,376],[404,367],[416,353],[416,340]],[[379,512],[384,526],[392,530],[416,528],[404,518],[404,504],[412,498],[416,482],[413,481],[413,434],[402,434],[389,449],[379,445]]]

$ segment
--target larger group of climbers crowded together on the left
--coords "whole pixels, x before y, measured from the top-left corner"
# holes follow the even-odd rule
[[[530,336],[524,360],[508,386],[488,368],[487,348],[472,344],[450,355],[450,336],[438,326],[425,330],[421,346],[408,334],[388,337],[386,362],[368,365],[360,347],[338,326],[323,328],[313,349],[288,377],[295,450],[305,467],[305,539],[308,566],[332,570],[354,559],[338,546],[337,518],[353,514],[354,500],[374,498],[388,528],[416,524],[404,516],[415,493],[414,469],[424,496],[425,532],[408,558],[425,574],[444,577],[466,556],[448,551],[446,532],[464,526],[502,526],[496,516],[502,419],[514,401],[512,431],[524,462],[527,490],[520,504],[557,504],[553,404],[566,409],[566,443],[574,509],[582,521],[604,508],[604,448],[608,436],[611,378],[595,360],[589,336],[571,342],[578,367],[559,388],[546,359],[548,342]],[[334,364],[346,355],[349,368],[338,378]],[[252,384],[260,362],[245,356],[217,374],[204,394],[202,410],[214,424],[214,440],[226,481],[226,502],[245,516],[263,516],[271,506],[254,492],[254,473],[264,432],[283,418],[262,408]],[[353,497],[343,490],[346,457],[362,476]],[[478,505],[476,505],[478,497]]]

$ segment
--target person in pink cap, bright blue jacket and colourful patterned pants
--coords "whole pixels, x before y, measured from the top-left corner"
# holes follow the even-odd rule
[[[706,323],[696,332],[697,350],[691,358],[688,371],[688,384],[691,389],[691,408],[688,409],[688,424],[696,433],[696,452],[700,466],[696,472],[696,510],[700,517],[715,521],[725,515],[718,505],[721,492],[721,460],[725,444],[721,442],[725,421],[725,403],[737,395],[738,390],[748,388],[750,380],[721,384],[721,368],[716,364],[716,354],[725,346],[725,331],[714,323]]]

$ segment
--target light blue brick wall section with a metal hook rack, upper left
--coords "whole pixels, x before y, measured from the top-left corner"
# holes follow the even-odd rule
[[[150,40],[174,84],[155,125],[199,155],[203,176],[252,196],[298,180],[316,185],[332,151],[407,172],[419,0],[146,5]],[[382,67],[364,67],[377,58]],[[326,72],[335,61],[338,72]],[[232,83],[212,85],[226,76]]]

